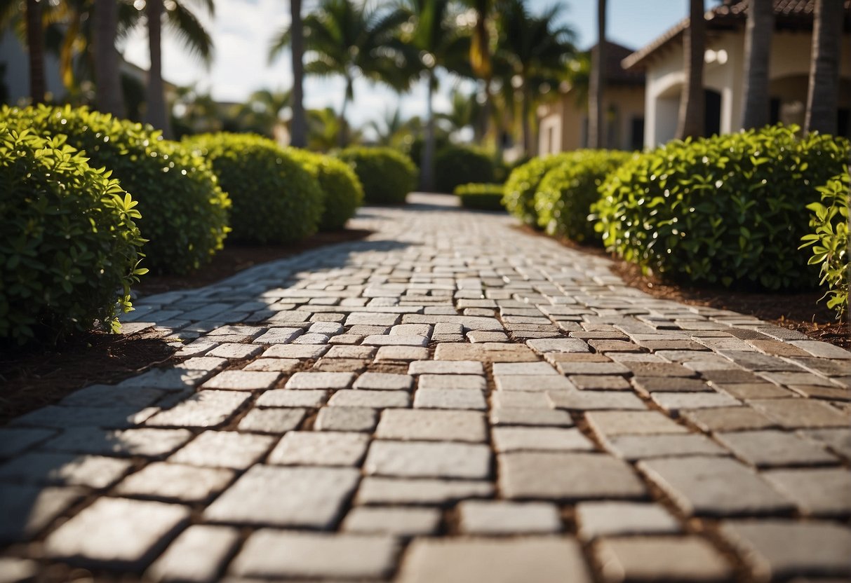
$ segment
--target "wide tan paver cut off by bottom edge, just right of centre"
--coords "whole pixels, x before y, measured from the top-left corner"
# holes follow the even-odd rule
[[[579,544],[567,537],[417,539],[402,561],[399,583],[588,583]]]

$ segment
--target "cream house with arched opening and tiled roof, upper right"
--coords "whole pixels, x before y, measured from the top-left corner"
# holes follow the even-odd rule
[[[843,1],[851,12],[851,1]],[[774,36],[768,65],[770,122],[802,125],[807,105],[814,0],[774,0]],[[745,104],[745,10],[748,0],[724,0],[705,14],[705,131],[732,133],[741,129]],[[644,145],[673,139],[683,93],[683,33],[688,18],[626,57],[626,71],[645,73]],[[837,135],[851,135],[851,20],[842,32]]]

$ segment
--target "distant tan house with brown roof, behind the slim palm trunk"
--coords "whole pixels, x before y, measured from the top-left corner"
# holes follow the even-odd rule
[[[632,54],[614,42],[606,42],[603,88],[604,147],[641,149],[644,140],[644,73],[626,71],[621,61]],[[596,50],[591,48],[591,53]],[[538,152],[541,156],[588,145],[587,85],[563,83],[557,99],[538,109]]]

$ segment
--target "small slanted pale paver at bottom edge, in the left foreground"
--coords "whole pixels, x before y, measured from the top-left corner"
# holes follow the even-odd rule
[[[196,524],[180,533],[146,575],[153,580],[212,583],[238,542],[237,529]]]

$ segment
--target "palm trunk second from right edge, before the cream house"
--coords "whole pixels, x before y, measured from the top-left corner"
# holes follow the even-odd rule
[[[773,0],[751,0],[745,28],[745,113],[742,127],[768,125],[768,57],[774,33]]]

